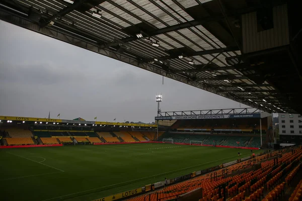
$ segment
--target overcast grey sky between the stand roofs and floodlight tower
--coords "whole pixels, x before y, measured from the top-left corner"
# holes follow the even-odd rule
[[[162,111],[239,103],[0,21],[0,115],[153,122]],[[245,106],[241,106],[245,107]]]

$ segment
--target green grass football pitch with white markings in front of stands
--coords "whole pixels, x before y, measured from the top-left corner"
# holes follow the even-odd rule
[[[0,150],[1,200],[92,200],[250,155],[174,144]]]

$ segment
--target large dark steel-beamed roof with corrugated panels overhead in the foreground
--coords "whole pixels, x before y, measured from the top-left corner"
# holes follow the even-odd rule
[[[302,113],[298,45],[288,48],[297,44],[301,27],[288,42],[253,44],[243,27],[249,14],[280,8],[287,18],[284,4],[293,9],[287,1],[260,2],[4,0],[0,19],[262,111]]]

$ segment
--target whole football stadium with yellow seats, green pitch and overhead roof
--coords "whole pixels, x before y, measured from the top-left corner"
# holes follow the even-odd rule
[[[164,112],[157,94],[152,124],[0,111],[0,199],[301,200],[298,8],[287,0],[0,1],[6,23],[244,105]]]

